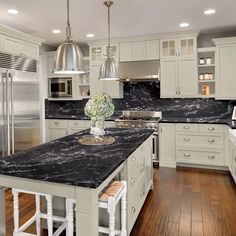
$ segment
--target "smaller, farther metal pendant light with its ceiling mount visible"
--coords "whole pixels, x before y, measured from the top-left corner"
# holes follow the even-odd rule
[[[118,67],[115,62],[114,56],[112,55],[112,48],[110,42],[110,7],[112,6],[112,1],[105,1],[104,5],[108,8],[108,46],[107,54],[103,59],[102,65],[100,67],[99,78],[100,80],[119,80],[118,78]]]

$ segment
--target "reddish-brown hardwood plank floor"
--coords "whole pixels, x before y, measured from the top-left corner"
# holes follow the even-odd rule
[[[12,196],[6,194],[7,236],[12,236]],[[34,199],[20,196],[21,222],[34,213]],[[29,229],[34,232],[34,227]],[[47,235],[42,232],[42,235]],[[154,169],[154,190],[131,236],[236,236],[236,188],[230,175],[196,169]]]

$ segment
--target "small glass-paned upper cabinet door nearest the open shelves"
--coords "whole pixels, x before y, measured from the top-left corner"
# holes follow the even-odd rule
[[[196,38],[180,38],[178,56],[181,58],[195,58],[197,55]]]

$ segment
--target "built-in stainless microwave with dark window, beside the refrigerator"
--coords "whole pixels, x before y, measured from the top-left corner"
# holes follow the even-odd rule
[[[71,78],[49,78],[49,97],[72,97]]]

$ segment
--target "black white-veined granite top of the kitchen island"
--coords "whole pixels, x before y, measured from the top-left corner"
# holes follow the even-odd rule
[[[84,146],[85,130],[0,160],[0,174],[97,188],[152,133],[150,129],[106,129],[116,139],[108,146]]]

